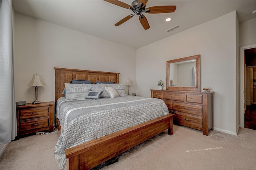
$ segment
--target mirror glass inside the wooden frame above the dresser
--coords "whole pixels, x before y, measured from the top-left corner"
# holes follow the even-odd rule
[[[169,86],[196,87],[196,59],[170,63]]]

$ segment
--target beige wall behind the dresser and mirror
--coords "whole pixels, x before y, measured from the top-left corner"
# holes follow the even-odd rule
[[[236,134],[236,11],[137,49],[137,93],[166,83],[166,61],[197,54],[201,90],[214,91],[214,129]]]

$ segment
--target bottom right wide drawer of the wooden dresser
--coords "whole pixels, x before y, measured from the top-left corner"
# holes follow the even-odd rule
[[[189,127],[203,128],[203,118],[174,112],[174,122]]]

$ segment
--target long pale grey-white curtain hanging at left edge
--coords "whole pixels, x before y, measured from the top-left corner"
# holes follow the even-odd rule
[[[12,44],[12,0],[0,0],[0,144],[17,136]]]

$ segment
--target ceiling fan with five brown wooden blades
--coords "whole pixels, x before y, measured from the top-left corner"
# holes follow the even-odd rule
[[[124,22],[130,20],[135,14],[139,16],[140,24],[143,26],[145,30],[148,30],[150,28],[148,24],[147,18],[142,14],[143,12],[149,13],[149,14],[160,14],[160,13],[169,13],[174,12],[176,10],[176,6],[151,6],[149,8],[146,8],[146,4],[148,0],[134,0],[131,5],[128,5],[124,2],[121,2],[119,0],[104,0],[106,2],[109,2],[111,4],[132,10],[134,14],[128,15],[124,17],[122,20],[118,21],[115,26],[120,26]]]

